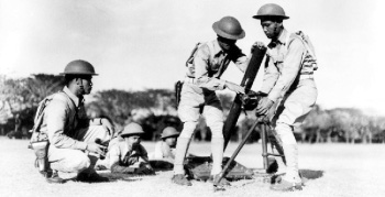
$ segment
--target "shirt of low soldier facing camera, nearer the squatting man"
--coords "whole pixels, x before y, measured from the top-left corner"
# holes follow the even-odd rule
[[[138,163],[140,158],[148,163],[147,151],[142,144],[132,147],[125,141],[119,141],[111,146],[108,154],[110,166],[114,163],[119,163],[120,166],[130,166]]]

